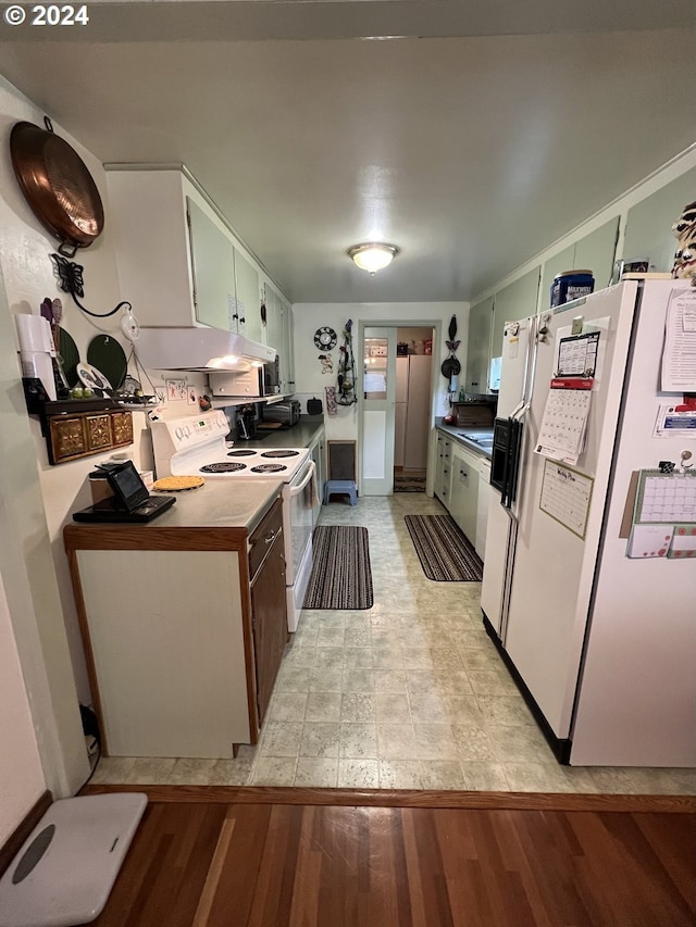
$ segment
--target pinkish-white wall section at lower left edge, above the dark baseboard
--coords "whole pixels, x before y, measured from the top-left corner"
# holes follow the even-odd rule
[[[46,790],[0,576],[0,845]]]

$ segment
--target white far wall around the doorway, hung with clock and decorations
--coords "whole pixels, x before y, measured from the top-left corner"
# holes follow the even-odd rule
[[[457,351],[460,363],[467,358],[467,330],[469,328],[469,303],[467,302],[401,302],[401,303],[295,303],[293,306],[293,331],[295,347],[295,393],[307,411],[307,400],[318,397],[324,404],[326,437],[331,440],[358,439],[358,405],[338,406],[334,416],[326,415],[324,388],[336,386],[338,373],[339,347],[343,345],[343,331],[346,322],[352,318],[353,355],[358,388],[362,383],[362,346],[358,342],[360,323],[365,325],[397,325],[415,328],[439,326],[439,337],[433,342],[433,358],[438,371],[435,392],[435,415],[445,415],[449,409],[447,400],[448,380],[439,374],[439,366],[448,355],[445,340],[452,315],[457,316],[457,338],[461,345]],[[314,333],[320,326],[332,327],[338,342],[333,351],[320,351],[314,345]],[[319,354],[330,353],[333,360],[333,373],[322,373]]]

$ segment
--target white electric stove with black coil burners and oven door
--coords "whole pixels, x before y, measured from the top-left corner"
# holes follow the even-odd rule
[[[250,479],[283,480],[283,535],[288,630],[296,631],[312,572],[315,468],[307,448],[228,446],[224,412],[151,423],[157,477],[202,476],[231,480],[244,492]],[[238,484],[235,486],[235,484]]]

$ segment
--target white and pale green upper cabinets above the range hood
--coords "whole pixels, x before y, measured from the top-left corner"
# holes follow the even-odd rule
[[[264,333],[259,265],[186,174],[111,171],[107,177],[121,290],[139,323],[224,328],[281,352],[289,338],[284,300],[273,290]]]

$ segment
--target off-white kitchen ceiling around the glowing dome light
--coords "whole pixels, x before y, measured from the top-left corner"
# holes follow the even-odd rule
[[[469,299],[696,140],[692,0],[88,10],[2,26],[2,74],[105,163],[186,164],[294,302]]]

